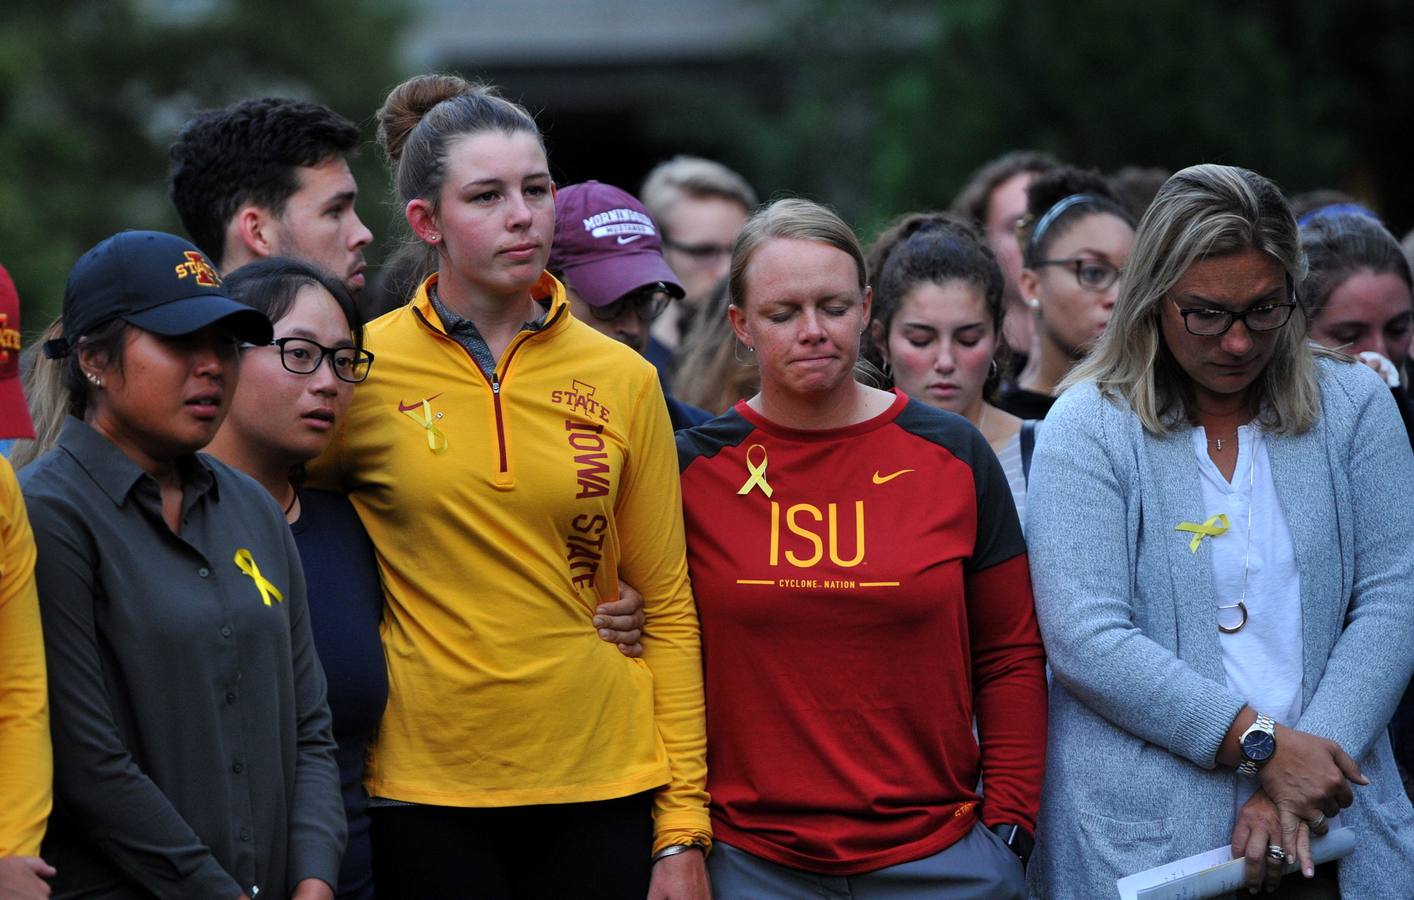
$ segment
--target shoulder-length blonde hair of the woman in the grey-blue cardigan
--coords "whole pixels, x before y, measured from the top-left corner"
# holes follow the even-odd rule
[[[1290,286],[1305,276],[1297,222],[1277,185],[1232,166],[1176,173],[1140,221],[1109,327],[1060,389],[1093,382],[1106,396],[1123,398],[1152,434],[1192,422],[1192,381],[1164,344],[1161,303],[1195,263],[1246,250],[1275,259]],[[1268,430],[1301,433],[1315,425],[1321,389],[1299,303],[1291,318],[1253,383],[1253,402]]]

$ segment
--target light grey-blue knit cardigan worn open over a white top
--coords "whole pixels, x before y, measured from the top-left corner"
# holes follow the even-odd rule
[[[1267,451],[1301,575],[1298,729],[1369,775],[1342,822],[1345,897],[1414,896],[1414,808],[1386,726],[1414,669],[1414,457],[1389,391],[1321,359],[1319,422]],[[1232,841],[1234,780],[1215,767],[1243,706],[1229,691],[1191,430],[1144,432],[1093,385],[1046,416],[1027,497],[1031,577],[1055,674],[1031,890],[1113,897],[1114,880]],[[1280,750],[1278,750],[1280,753]]]

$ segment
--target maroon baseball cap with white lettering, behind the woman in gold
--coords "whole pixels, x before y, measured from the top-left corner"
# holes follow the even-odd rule
[[[658,225],[643,204],[598,181],[571,184],[556,194],[549,269],[563,275],[590,306],[608,306],[658,283],[674,297],[684,293],[663,262]]]

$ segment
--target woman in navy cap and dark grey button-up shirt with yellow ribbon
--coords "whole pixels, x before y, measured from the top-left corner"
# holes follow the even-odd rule
[[[123,232],[69,275],[69,417],[23,473],[54,733],[58,896],[329,899],[344,809],[280,507],[201,456],[270,323],[191,243]]]

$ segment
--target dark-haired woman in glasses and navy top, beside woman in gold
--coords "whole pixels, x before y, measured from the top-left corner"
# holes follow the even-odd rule
[[[378,634],[383,592],[373,545],[348,500],[300,490],[296,475],[344,423],[354,385],[368,378],[373,355],[361,347],[362,323],[348,289],[308,263],[267,258],[236,269],[223,289],[264,313],[274,340],[242,347],[230,415],[208,453],[270,491],[294,532],[348,819],[337,897],[366,900],[373,896],[373,870],[363,754],[387,700]]]

